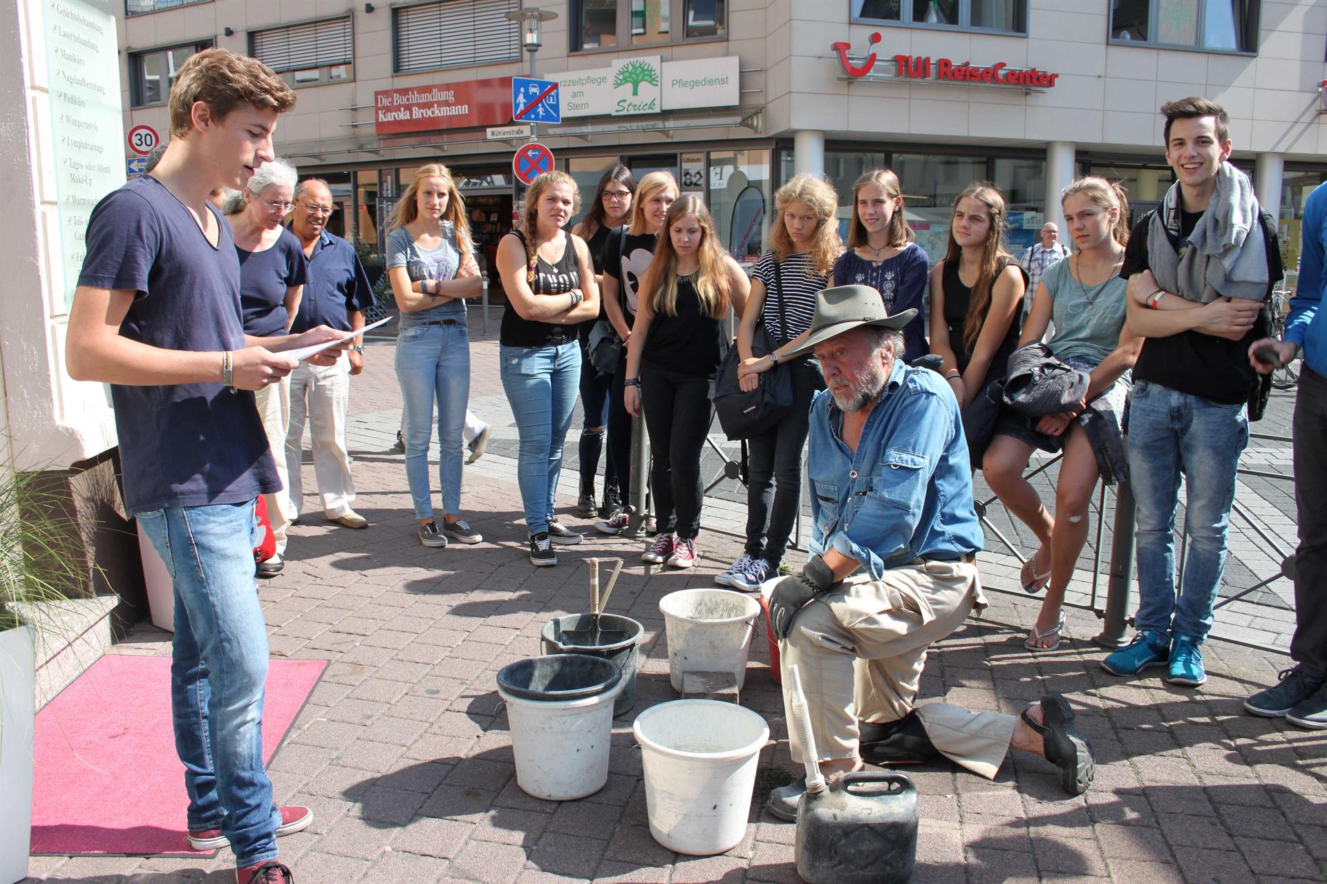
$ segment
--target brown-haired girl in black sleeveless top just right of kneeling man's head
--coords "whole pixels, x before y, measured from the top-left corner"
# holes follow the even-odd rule
[[[970,184],[954,201],[949,252],[930,272],[930,351],[966,408],[1005,376],[1018,349],[1018,306],[1027,274],[1003,247],[1005,197],[994,184]],[[1009,268],[1016,269],[1011,272]],[[974,278],[966,285],[959,276]]]

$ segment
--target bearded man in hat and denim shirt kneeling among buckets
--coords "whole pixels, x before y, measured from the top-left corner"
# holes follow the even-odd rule
[[[938,374],[898,358],[916,313],[888,315],[869,286],[825,289],[798,350],[815,351],[827,390],[811,406],[812,555],[770,598],[788,720],[796,665],[827,777],[857,770],[863,755],[945,755],[993,778],[1013,747],[1048,759],[1082,794],[1095,769],[1064,697],[1047,694],[1020,718],[916,705],[926,649],[986,607],[958,402]],[[796,733],[791,745],[802,762]],[[804,791],[804,778],[774,790],[770,812],[795,819]]]

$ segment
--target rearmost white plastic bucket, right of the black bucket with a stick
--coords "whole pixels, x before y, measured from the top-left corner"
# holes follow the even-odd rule
[[[681,590],[660,599],[660,611],[674,691],[682,692],[683,672],[731,672],[742,689],[751,624],[760,615],[754,596],[731,590]]]

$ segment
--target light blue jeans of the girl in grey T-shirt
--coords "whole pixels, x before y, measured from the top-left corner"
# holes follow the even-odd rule
[[[406,326],[397,338],[397,379],[405,402],[406,482],[415,518],[433,516],[429,444],[438,403],[438,482],[442,512],[460,512],[462,439],[470,402],[470,338],[456,323]]]

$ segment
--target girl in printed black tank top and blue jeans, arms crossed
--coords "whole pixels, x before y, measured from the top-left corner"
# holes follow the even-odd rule
[[[581,541],[553,518],[563,443],[580,387],[576,326],[598,315],[589,249],[561,229],[579,199],[567,172],[540,175],[525,191],[524,232],[498,244],[498,272],[507,293],[500,374],[520,437],[516,478],[533,565],[557,565],[553,543]]]

